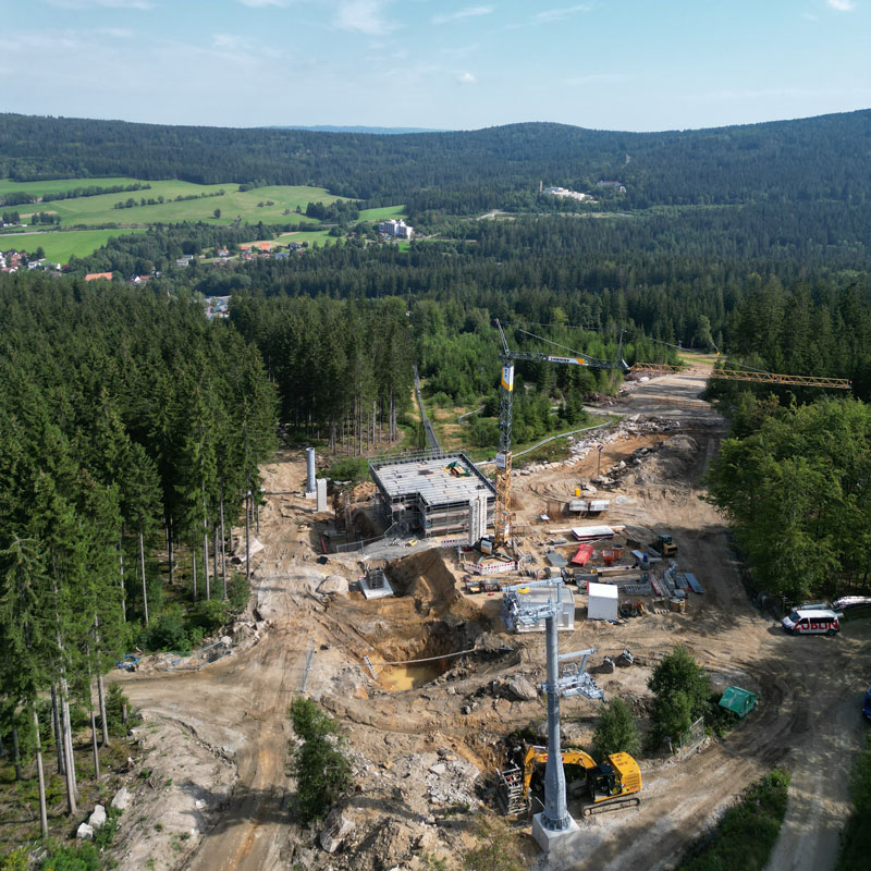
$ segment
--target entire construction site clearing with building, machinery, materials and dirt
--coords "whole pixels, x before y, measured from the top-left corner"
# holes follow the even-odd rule
[[[510,443],[489,466],[373,462],[338,507],[311,498],[310,458],[281,453],[233,654],[118,678],[145,721],[137,764],[169,783],[140,785],[122,867],[418,871],[456,862],[493,812],[532,869],[671,868],[774,764],[793,793],[769,868],[834,867],[871,628],[794,639],[748,598],[706,501],[725,424],[702,388],[636,381],[554,463],[512,462]],[[597,764],[603,701],[643,731],[677,643],[752,709],[723,738]],[[338,719],[354,763],[354,792],[315,827],[291,815],[299,694]]]

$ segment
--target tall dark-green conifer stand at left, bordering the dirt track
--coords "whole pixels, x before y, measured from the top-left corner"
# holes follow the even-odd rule
[[[274,393],[256,348],[185,295],[13,275],[0,322],[0,728],[38,751],[37,702],[51,691],[69,736],[88,676],[171,633],[168,601],[221,625],[229,524],[259,493]],[[75,812],[71,753],[66,772]]]

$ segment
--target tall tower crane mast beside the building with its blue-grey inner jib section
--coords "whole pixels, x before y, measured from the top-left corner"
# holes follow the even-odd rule
[[[625,371],[628,367],[623,360],[602,360],[596,357],[588,357],[586,354],[578,354],[571,348],[556,345],[548,339],[542,339],[535,333],[527,333],[535,339],[550,342],[556,347],[569,352],[568,356],[557,354],[543,354],[538,351],[511,351],[508,348],[505,332],[502,324],[496,319],[499,338],[502,341],[502,353],[500,361],[502,364],[502,379],[500,382],[499,400],[499,453],[496,454],[496,501],[493,511],[493,547],[499,549],[504,547],[511,538],[511,429],[512,410],[514,404],[514,361],[530,360],[533,363],[556,363],[564,366],[589,366],[596,369],[618,369]],[[522,332],[527,332],[522,330]]]

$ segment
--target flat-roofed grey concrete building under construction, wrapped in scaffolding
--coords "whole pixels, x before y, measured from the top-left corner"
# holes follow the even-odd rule
[[[496,491],[465,454],[371,463],[384,520],[422,536],[481,538],[493,523]]]

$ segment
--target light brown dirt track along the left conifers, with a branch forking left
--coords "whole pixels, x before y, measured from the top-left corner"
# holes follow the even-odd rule
[[[236,786],[219,823],[185,864],[192,871],[278,868],[286,844],[287,710],[300,689],[311,646],[297,599],[305,598],[307,579],[320,573],[307,565],[290,572],[292,554],[307,536],[296,524],[280,523],[275,513],[265,514],[270,555],[254,577],[257,612],[272,624],[265,637],[204,671],[137,675],[124,685],[134,704],[192,726],[198,738],[229,750],[235,762]]]

